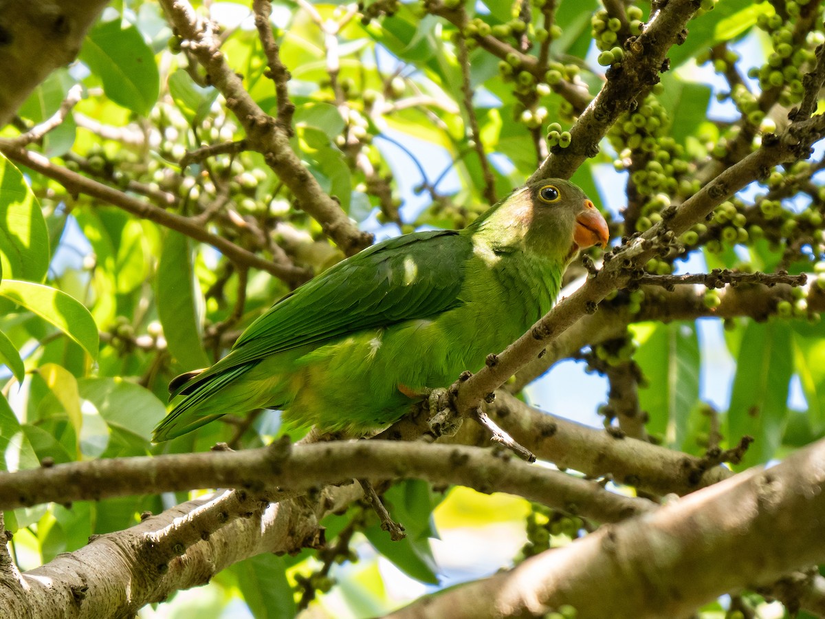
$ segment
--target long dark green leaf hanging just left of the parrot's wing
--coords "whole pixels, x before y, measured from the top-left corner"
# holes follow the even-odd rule
[[[192,272],[189,239],[169,230],[158,264],[158,318],[169,352],[184,370],[210,365],[200,342],[203,304]]]

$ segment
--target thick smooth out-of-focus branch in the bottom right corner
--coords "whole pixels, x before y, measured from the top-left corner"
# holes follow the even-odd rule
[[[825,441],[390,617],[686,617],[825,559]],[[598,595],[593,584],[598,583]]]

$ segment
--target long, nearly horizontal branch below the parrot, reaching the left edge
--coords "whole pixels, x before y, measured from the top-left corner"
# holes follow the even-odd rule
[[[306,490],[352,479],[406,477],[519,494],[557,509],[576,505],[577,513],[600,522],[616,522],[650,508],[647,502],[605,492],[559,471],[513,461],[507,451],[383,441],[325,442],[291,451],[276,443],[245,451],[120,458],[0,473],[0,506],[192,488],[235,487],[262,493],[277,485]]]

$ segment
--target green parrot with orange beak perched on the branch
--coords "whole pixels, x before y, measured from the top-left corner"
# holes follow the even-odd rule
[[[282,409],[287,427],[393,423],[525,333],[578,250],[607,240],[582,190],[545,178],[464,229],[377,243],[279,300],[214,366],[172,380],[154,441],[262,408]]]

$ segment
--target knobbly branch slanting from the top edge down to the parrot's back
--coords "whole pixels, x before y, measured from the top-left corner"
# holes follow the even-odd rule
[[[161,5],[172,27],[184,39],[182,45],[204,66],[210,83],[224,95],[226,106],[247,131],[247,144],[264,155],[266,163],[295,194],[300,207],[321,224],[323,231],[347,255],[372,243],[372,235],[361,232],[304,167],[278,120],[267,115],[249,96],[242,78],[220,51],[219,38],[210,22],[199,17],[185,0],[163,0]]]

